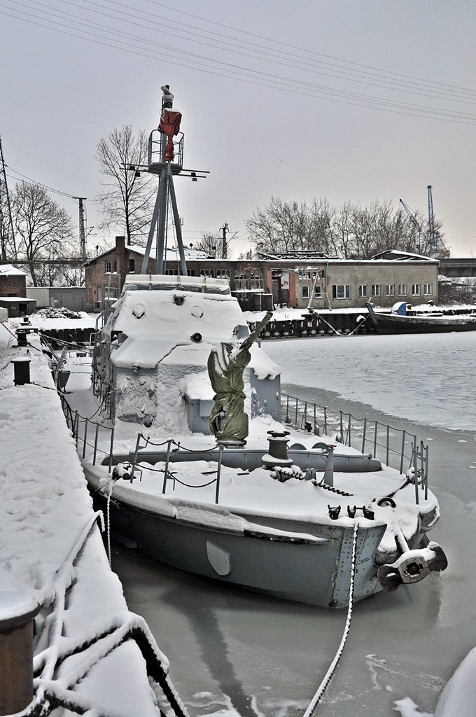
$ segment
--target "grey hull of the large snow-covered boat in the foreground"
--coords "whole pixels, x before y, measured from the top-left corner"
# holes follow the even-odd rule
[[[96,481],[90,488],[93,489]],[[239,516],[269,528],[260,531],[227,530],[206,522],[191,523],[158,511],[143,510],[124,500],[127,490],[113,493],[110,522],[113,534],[127,536],[146,554],[189,573],[233,584],[274,597],[320,607],[348,604],[351,587],[353,525],[320,525],[269,516]],[[94,495],[95,507],[105,510],[107,497]],[[160,501],[158,501],[159,503]],[[209,508],[210,511],[213,508]],[[236,514],[238,515],[238,514]],[[381,591],[375,556],[385,525],[360,526],[356,542],[354,601]],[[279,535],[273,531],[281,531]],[[313,536],[307,541],[297,534]],[[418,547],[423,536],[415,536]]]

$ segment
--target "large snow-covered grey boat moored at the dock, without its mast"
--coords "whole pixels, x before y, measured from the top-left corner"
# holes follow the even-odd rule
[[[399,472],[282,424],[280,370],[258,343],[227,280],[126,278],[97,331],[92,386],[65,397],[113,531],[186,571],[324,607],[444,569],[418,451]]]

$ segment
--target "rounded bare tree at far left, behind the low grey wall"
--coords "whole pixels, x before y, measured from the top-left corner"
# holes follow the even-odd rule
[[[16,185],[12,211],[18,254],[28,262],[33,285],[52,285],[56,276],[53,267],[62,260],[67,262],[75,247],[70,215],[44,186],[25,181]]]

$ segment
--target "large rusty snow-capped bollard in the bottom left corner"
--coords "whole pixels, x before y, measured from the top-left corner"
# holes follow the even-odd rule
[[[33,618],[37,601],[0,592],[0,715],[21,712],[33,699]]]

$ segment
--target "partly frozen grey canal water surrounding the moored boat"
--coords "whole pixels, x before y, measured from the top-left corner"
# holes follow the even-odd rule
[[[476,645],[476,332],[268,341],[287,393],[409,427],[430,445],[432,533],[449,567],[356,605],[351,633],[316,714],[433,713]],[[338,644],[346,612],[282,602],[116,548],[113,568],[171,660],[191,717],[298,717]]]

